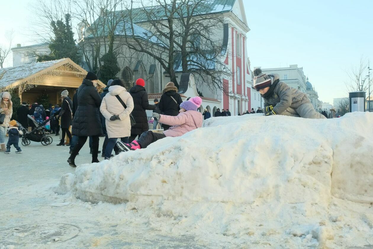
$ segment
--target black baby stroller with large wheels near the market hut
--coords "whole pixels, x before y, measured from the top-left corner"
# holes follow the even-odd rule
[[[28,146],[31,143],[31,141],[41,142],[41,144],[43,144],[45,146],[47,146],[48,144],[51,144],[53,142],[53,139],[50,136],[46,136],[46,132],[49,131],[49,130],[47,130],[44,127],[44,125],[46,125],[47,122],[50,121],[50,119],[52,119],[54,116],[55,115],[50,116],[50,118],[48,118],[46,121],[39,124],[38,122],[35,121],[34,118],[32,118],[32,116],[27,115],[27,117],[29,119],[31,119],[32,122],[34,122],[35,129],[29,132],[27,129],[22,127],[22,125],[20,125],[19,128],[23,131],[22,145],[23,146]]]

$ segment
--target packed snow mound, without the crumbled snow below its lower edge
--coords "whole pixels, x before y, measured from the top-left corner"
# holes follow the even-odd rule
[[[373,113],[211,118],[147,149],[78,166],[57,192],[89,201],[373,202]],[[68,181],[66,181],[68,179]]]

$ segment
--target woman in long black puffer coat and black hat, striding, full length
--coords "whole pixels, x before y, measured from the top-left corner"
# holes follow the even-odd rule
[[[74,162],[75,157],[88,137],[92,137],[92,162],[100,162],[97,155],[99,136],[102,135],[101,119],[98,114],[101,97],[96,87],[97,76],[93,72],[88,72],[76,93],[78,108],[72,121],[72,134],[79,138],[68,159],[68,163],[72,167],[76,167]]]

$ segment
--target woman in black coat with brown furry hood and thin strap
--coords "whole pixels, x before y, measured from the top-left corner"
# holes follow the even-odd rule
[[[183,102],[178,88],[173,82],[167,83],[162,91],[161,99],[159,100],[159,109],[164,115],[177,116],[180,111],[180,104]],[[171,126],[162,124],[163,130],[168,130]]]

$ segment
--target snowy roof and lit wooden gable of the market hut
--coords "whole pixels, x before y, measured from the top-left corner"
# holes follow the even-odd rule
[[[21,102],[31,104],[41,94],[47,93],[50,103],[54,105],[60,102],[63,90],[68,90],[72,99],[86,75],[87,71],[69,58],[2,68],[0,91],[16,90]],[[103,87],[105,85],[98,81],[98,88]]]

